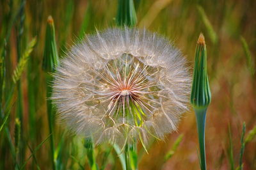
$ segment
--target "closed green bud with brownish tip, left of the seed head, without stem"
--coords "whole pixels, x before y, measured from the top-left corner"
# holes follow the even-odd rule
[[[54,72],[55,66],[57,66],[58,63],[59,60],[55,40],[54,22],[52,17],[49,16],[47,19],[47,27],[45,33],[43,70],[45,70],[45,72]]]

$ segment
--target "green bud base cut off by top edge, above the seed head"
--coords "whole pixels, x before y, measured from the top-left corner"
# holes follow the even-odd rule
[[[137,22],[133,0],[118,0],[116,24],[118,26],[135,26]]]

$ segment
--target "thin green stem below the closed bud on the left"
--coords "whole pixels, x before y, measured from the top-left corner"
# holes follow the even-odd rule
[[[52,169],[55,170],[55,160],[54,160],[54,135],[53,135],[53,125],[54,125],[54,112],[52,111],[52,101],[49,99],[51,98],[52,87],[50,86],[52,82],[52,76],[46,75],[46,86],[47,86],[47,116],[48,116],[48,125],[49,125],[49,133],[51,134],[50,137],[50,147],[51,147],[51,162],[52,162]]]

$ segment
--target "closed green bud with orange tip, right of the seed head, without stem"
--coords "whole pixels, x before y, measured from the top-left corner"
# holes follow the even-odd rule
[[[196,109],[204,109],[208,107],[210,102],[211,90],[207,76],[207,52],[204,35],[201,33],[197,41],[195,52],[191,104]]]

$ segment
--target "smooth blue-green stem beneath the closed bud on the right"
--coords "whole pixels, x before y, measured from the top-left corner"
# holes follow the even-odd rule
[[[198,141],[200,148],[200,167],[202,170],[206,170],[205,159],[205,118],[207,108],[195,109],[196,113],[196,125],[198,132]]]

